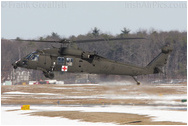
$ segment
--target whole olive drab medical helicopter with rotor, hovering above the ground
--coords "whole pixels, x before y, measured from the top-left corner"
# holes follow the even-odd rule
[[[55,71],[71,73],[107,74],[107,75],[128,75],[139,85],[136,76],[161,73],[161,67],[167,63],[167,58],[172,51],[169,44],[161,49],[161,53],[155,57],[147,66],[138,67],[128,63],[120,63],[104,58],[94,52],[85,52],[79,48],[70,46],[73,43],[87,43],[99,41],[114,41],[127,39],[144,38],[111,38],[111,39],[91,39],[71,41],[62,39],[60,41],[40,41],[40,40],[18,40],[29,42],[50,42],[68,44],[60,48],[49,48],[36,50],[27,56],[14,62],[14,69],[23,67],[27,69],[41,70],[46,78],[53,79]]]

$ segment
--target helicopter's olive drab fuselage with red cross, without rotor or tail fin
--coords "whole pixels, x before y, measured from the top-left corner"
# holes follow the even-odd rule
[[[22,65],[17,63],[19,67],[42,70],[43,72],[61,71],[130,76],[147,74],[149,72],[142,67],[116,62],[94,53],[70,48],[36,51],[24,57],[19,62],[23,63]]]

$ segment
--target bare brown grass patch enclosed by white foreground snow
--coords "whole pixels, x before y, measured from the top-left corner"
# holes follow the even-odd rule
[[[62,117],[85,122],[115,123],[119,125],[186,125],[180,122],[152,121],[145,115],[105,112],[43,111],[29,113],[32,116]]]

